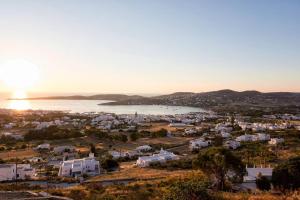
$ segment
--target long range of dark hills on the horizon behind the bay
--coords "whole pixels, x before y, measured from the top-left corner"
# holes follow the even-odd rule
[[[193,106],[211,110],[246,110],[258,108],[289,108],[300,110],[300,93],[258,91],[237,92],[219,90],[212,92],[176,92],[169,95],[143,97],[139,95],[99,94],[93,96],[53,96],[29,98],[28,100],[111,100],[101,105],[174,105]]]

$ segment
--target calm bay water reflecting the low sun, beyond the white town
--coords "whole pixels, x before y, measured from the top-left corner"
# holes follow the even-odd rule
[[[106,100],[8,100],[0,96],[0,108],[16,110],[55,110],[71,113],[106,112],[115,114],[174,115],[204,112],[204,109],[187,106],[164,105],[99,105]]]

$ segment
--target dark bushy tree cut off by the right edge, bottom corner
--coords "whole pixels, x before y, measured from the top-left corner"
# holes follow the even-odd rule
[[[291,158],[275,167],[272,183],[281,190],[300,188],[300,157]]]

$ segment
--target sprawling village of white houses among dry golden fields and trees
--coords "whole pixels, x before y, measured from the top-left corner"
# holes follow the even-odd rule
[[[0,187],[13,188],[17,182],[26,190],[53,195],[66,191],[60,196],[72,197],[72,188],[90,184],[103,188],[101,196],[118,184],[186,178],[199,172],[195,160],[209,149],[227,149],[240,159],[242,179],[231,172],[227,187],[252,193],[259,190],[258,178],[272,180],[273,169],[300,152],[300,116],[294,114],[116,115],[3,109],[0,116]],[[92,193],[86,190],[85,195]],[[155,199],[153,195],[149,199]]]

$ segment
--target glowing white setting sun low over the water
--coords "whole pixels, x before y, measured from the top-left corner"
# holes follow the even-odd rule
[[[26,60],[10,60],[0,65],[0,79],[14,94],[14,98],[26,97],[26,92],[39,80],[36,65]]]

